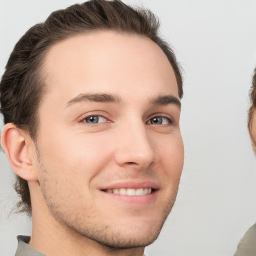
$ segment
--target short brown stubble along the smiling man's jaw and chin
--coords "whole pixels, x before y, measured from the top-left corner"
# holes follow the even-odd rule
[[[157,219],[158,224],[152,224],[147,227],[146,234],[141,236],[139,233],[136,235],[125,233],[111,224],[106,224],[104,221],[91,221],[91,216],[84,215],[73,217],[68,212],[63,212],[59,205],[55,205],[47,198],[44,182],[41,184],[41,192],[47,203],[51,215],[59,222],[69,233],[74,236],[80,236],[92,241],[95,241],[108,251],[118,251],[131,248],[145,247],[151,244],[159,235],[160,230],[173,206],[174,199],[170,199],[163,209],[163,217],[161,220]],[[175,196],[176,197],[176,196]],[[118,223],[117,223],[118,225]]]

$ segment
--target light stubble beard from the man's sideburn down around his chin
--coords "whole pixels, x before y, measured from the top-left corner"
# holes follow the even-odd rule
[[[79,212],[79,208],[74,208],[68,211],[65,207],[66,205],[61,205],[59,204],[59,201],[52,200],[54,197],[58,198],[58,194],[55,190],[50,189],[52,183],[49,182],[47,178],[47,170],[44,168],[41,160],[39,162],[41,169],[41,179],[39,183],[40,190],[50,214],[65,228],[65,230],[67,230],[67,232],[69,232],[69,234],[73,234],[74,237],[78,235],[79,237],[95,241],[98,245],[109,251],[145,247],[151,244],[158,237],[177,194],[176,187],[175,194],[165,202],[165,206],[162,209],[162,217],[153,220],[154,223],[147,227],[146,233],[144,233],[143,236],[139,234],[127,234],[127,232],[124,233],[123,230],[111,226],[111,224],[93,219],[94,214],[97,214],[97,212],[92,212],[92,214],[87,215],[86,212],[85,214],[84,212]],[[65,198],[62,198],[62,202],[65,201],[63,199]],[[86,217],[84,217],[84,215],[86,215]],[[155,222],[158,223],[155,224]]]

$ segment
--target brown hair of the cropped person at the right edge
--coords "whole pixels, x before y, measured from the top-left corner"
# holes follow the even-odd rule
[[[253,76],[252,76],[252,84],[250,87],[250,92],[249,92],[249,99],[250,99],[250,107],[248,110],[248,130],[249,134],[252,140],[252,144],[255,146],[256,145],[256,140],[251,136],[251,126],[252,126],[252,118],[253,118],[253,113],[254,110],[256,110],[256,68],[254,69]]]

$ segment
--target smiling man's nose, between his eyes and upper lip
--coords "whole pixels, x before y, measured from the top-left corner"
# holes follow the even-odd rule
[[[118,132],[115,161],[121,166],[133,166],[139,169],[148,167],[155,161],[156,154],[146,124],[140,120],[123,126]]]

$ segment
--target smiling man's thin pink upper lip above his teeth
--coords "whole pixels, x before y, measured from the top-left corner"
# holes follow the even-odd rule
[[[111,184],[108,184],[106,186],[100,187],[101,190],[104,189],[114,189],[114,188],[147,188],[151,187],[153,189],[159,189],[159,185],[157,182],[152,181],[152,180],[143,180],[143,181],[118,181],[118,182],[113,182]]]

